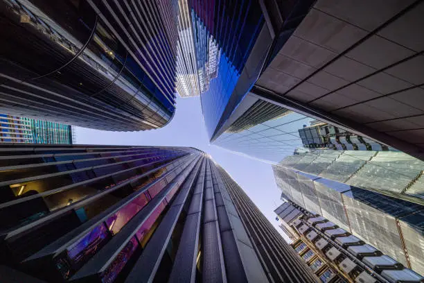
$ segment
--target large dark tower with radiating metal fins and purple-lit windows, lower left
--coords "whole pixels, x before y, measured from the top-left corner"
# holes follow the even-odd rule
[[[1,264],[12,269],[55,283],[317,282],[195,148],[1,151]]]

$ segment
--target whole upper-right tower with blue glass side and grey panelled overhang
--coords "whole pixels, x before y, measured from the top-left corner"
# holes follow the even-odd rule
[[[378,17],[369,13],[380,6]],[[355,137],[342,141],[353,147],[346,149],[375,144],[424,159],[423,46],[415,40],[423,8],[419,1],[193,4],[221,52],[218,76],[202,93],[211,143],[279,162],[303,147],[297,130],[318,120]],[[411,38],[400,36],[409,31]],[[290,121],[292,111],[298,116]],[[303,125],[292,128],[297,121]]]

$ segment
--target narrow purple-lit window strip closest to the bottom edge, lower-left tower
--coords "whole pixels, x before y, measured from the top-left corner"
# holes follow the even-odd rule
[[[100,275],[103,283],[112,283],[115,281],[118,274],[122,271],[128,259],[134,254],[139,243],[132,237],[125,247],[118,253],[112,264],[107,266],[106,270]]]

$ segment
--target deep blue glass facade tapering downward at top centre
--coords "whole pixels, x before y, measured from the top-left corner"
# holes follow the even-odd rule
[[[230,97],[244,95],[236,94],[236,85],[265,20],[256,1],[193,1],[192,9],[195,33],[202,41],[196,47],[197,62],[202,66],[209,55],[216,58],[209,60],[217,71],[209,71],[213,76],[208,76],[209,87],[201,96],[206,130],[212,137]]]

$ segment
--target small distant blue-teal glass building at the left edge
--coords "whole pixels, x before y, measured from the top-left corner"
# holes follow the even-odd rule
[[[0,142],[73,144],[71,125],[0,114]]]

